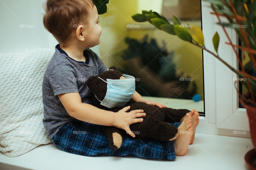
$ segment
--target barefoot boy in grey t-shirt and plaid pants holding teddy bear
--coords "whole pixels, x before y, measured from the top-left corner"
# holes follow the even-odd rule
[[[129,110],[129,106],[114,113],[91,105],[92,93],[87,87],[87,79],[107,71],[107,67],[90,47],[100,43],[101,25],[97,8],[91,0],[47,0],[46,14],[43,16],[45,28],[59,42],[43,78],[43,124],[53,143],[62,150],[79,155],[133,155],[141,158],[175,159],[184,155],[194,140],[195,127],[199,113],[193,109],[187,113],[182,123],[175,123],[179,134],[173,141],[160,142],[149,139],[135,139],[129,125],[143,121],[143,110]],[[160,108],[166,107],[159,102],[144,99],[136,91],[132,98]],[[113,150],[101,131],[100,125],[124,129],[122,147]],[[194,126],[194,128],[192,127]],[[192,142],[191,142],[192,141]],[[142,147],[142,143],[146,143]],[[159,151],[159,147],[164,149]],[[173,147],[174,146],[174,147]],[[148,148],[155,155],[141,154]],[[155,150],[154,150],[155,148]],[[174,151],[175,148],[175,151]],[[136,150],[136,152],[135,152]],[[147,153],[149,153],[147,152]],[[169,154],[165,154],[169,152]],[[165,156],[163,156],[165,155]]]

